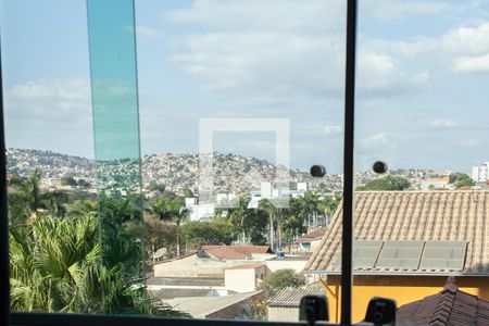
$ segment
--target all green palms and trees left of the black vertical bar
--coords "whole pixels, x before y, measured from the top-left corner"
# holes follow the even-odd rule
[[[12,309],[187,316],[156,304],[146,291],[145,262],[151,263],[158,249],[172,258],[202,244],[265,244],[269,226],[281,247],[306,231],[312,214],[333,214],[339,198],[308,192],[288,208],[262,200],[249,209],[249,202],[240,197],[237,208],[216,210],[210,222],[189,222],[184,198],[170,191],[148,202],[135,195],[93,201],[42,191],[38,173],[14,176],[9,180]],[[279,286],[277,275],[267,290]]]

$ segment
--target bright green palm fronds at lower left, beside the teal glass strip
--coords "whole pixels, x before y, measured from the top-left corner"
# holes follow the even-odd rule
[[[43,216],[10,230],[12,309],[84,312],[98,287],[100,247],[95,216],[76,221]]]

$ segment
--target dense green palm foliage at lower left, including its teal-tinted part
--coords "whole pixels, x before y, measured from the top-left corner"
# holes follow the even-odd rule
[[[188,316],[146,291],[140,198],[71,202],[39,180],[9,183],[13,310]]]

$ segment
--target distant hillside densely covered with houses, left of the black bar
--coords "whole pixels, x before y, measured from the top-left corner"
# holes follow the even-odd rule
[[[37,168],[45,178],[65,176],[93,181],[95,161],[52,151],[8,149],[8,173],[27,176]],[[275,164],[256,158],[231,153],[214,153],[214,188],[216,191],[248,193],[258,190],[261,181],[273,181]],[[341,189],[339,175],[312,178],[309,173],[289,171],[290,181],[305,181],[313,188]],[[164,185],[167,190],[181,192],[184,188],[195,189],[199,180],[198,154],[160,153],[142,158],[143,186]]]

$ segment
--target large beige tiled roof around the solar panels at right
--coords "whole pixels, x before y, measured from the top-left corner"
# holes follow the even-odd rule
[[[327,226],[305,271],[338,273],[341,251],[342,204]],[[464,269],[457,274],[489,275],[489,191],[365,191],[356,192],[356,240],[467,241]],[[448,271],[377,268],[361,273],[426,273]],[[453,273],[449,273],[453,274]]]

